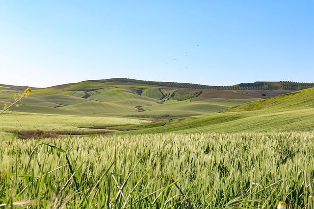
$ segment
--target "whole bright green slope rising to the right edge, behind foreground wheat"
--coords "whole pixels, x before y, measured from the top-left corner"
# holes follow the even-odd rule
[[[314,88],[232,107],[221,113],[134,126],[134,133],[314,130]]]

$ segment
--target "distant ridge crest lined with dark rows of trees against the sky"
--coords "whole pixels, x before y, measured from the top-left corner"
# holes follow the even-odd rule
[[[88,82],[126,82],[156,85],[163,87],[187,88],[187,89],[209,89],[209,90],[293,90],[298,91],[314,87],[314,83],[299,83],[293,81],[256,81],[254,83],[240,83],[233,86],[209,86],[193,83],[144,81],[131,78],[110,78],[103,80],[88,80]]]

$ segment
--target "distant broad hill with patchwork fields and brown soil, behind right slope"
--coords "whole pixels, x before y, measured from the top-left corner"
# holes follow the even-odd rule
[[[296,84],[255,82],[217,87],[127,78],[88,80],[33,88],[29,97],[11,110],[36,114],[175,118],[223,111],[249,101],[291,93],[294,90],[287,89],[293,88],[284,85],[290,83]],[[297,84],[298,88],[312,85]],[[13,94],[25,88],[0,85],[0,105],[13,102]]]

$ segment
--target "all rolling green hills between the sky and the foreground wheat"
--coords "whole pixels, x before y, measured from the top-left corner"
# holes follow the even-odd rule
[[[12,107],[12,113],[2,116],[5,119],[1,120],[0,127],[5,131],[110,126],[110,129],[128,130],[120,133],[133,134],[310,131],[314,130],[314,88],[300,91],[293,88],[311,85],[255,82],[238,84],[228,90],[227,87],[122,78],[90,80],[34,88],[19,107]],[[266,90],[266,86],[271,88]],[[264,89],[259,90],[260,87]],[[13,93],[24,88],[0,85],[0,106],[13,102]],[[71,123],[72,120],[76,122]]]

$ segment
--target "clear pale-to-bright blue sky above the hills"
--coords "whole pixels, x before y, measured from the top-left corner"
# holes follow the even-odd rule
[[[0,0],[0,83],[314,82],[314,0]]]

